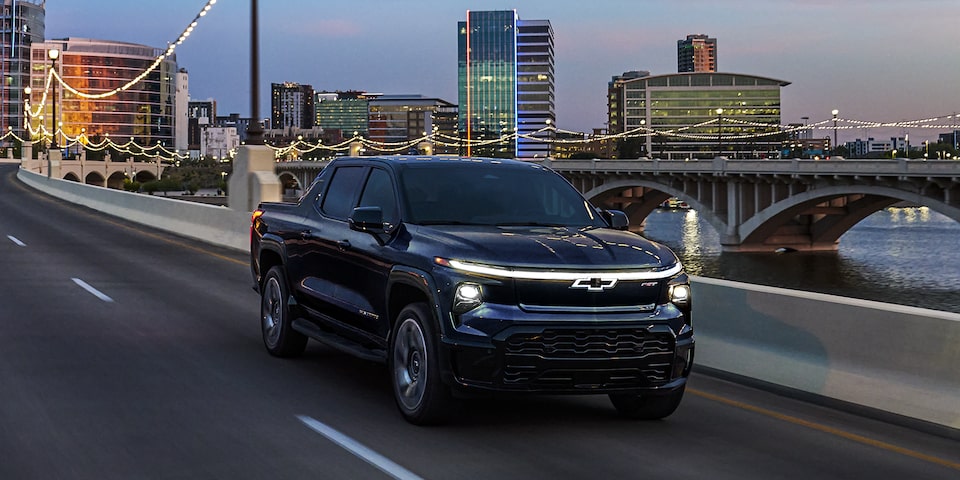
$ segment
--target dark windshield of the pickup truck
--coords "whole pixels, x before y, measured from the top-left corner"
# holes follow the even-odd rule
[[[404,219],[418,225],[604,225],[563,177],[532,164],[408,165],[400,189]]]

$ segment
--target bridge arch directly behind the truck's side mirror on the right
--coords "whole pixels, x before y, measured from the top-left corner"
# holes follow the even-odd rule
[[[605,208],[618,208],[627,214],[631,228],[642,230],[644,219],[668,198],[676,197],[697,211],[717,232],[726,232],[727,223],[713,209],[701,203],[686,191],[666,183],[627,178],[614,180],[584,193],[592,203]]]

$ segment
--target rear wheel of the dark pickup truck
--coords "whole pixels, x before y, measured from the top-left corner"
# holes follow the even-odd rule
[[[287,276],[276,266],[267,271],[260,287],[260,333],[263,346],[276,357],[296,357],[307,347],[307,337],[290,322]]]

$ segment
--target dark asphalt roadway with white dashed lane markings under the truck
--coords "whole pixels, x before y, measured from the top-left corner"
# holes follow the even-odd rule
[[[664,421],[606,397],[404,422],[385,368],[270,357],[246,255],[39,194],[0,165],[0,478],[924,478],[960,442],[702,374]]]

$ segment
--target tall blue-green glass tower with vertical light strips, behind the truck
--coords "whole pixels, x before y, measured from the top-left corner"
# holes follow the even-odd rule
[[[515,10],[468,10],[458,31],[459,134],[491,141],[468,143],[462,153],[549,156],[556,123],[549,20],[520,20]],[[502,138],[511,140],[496,141]]]

